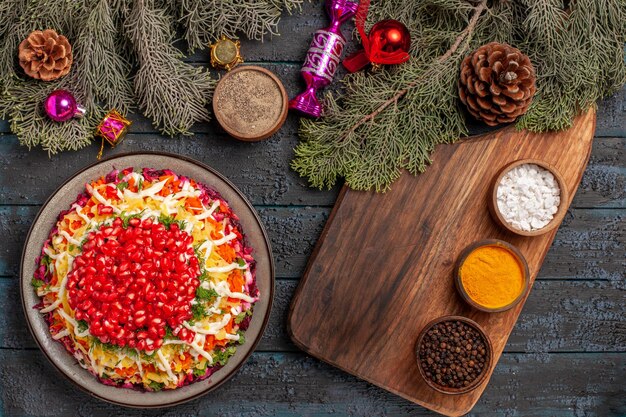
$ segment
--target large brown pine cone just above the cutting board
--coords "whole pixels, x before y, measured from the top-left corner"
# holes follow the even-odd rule
[[[459,96],[467,110],[495,126],[524,114],[535,94],[535,69],[530,59],[507,44],[492,42],[465,57]]]

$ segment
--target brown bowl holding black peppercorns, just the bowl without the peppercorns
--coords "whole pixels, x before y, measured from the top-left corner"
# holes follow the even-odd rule
[[[422,344],[422,340],[424,339],[424,337],[426,336],[428,331],[434,325],[436,325],[438,323],[441,323],[441,322],[446,322],[446,321],[460,321],[460,322],[463,322],[466,325],[472,327],[473,329],[475,329],[482,336],[482,338],[485,340],[485,346],[487,347],[487,358],[486,358],[486,361],[485,361],[485,367],[483,368],[483,371],[478,376],[478,378],[476,378],[471,384],[469,384],[468,386],[463,387],[463,388],[448,388],[448,387],[441,386],[441,385],[435,383],[434,381],[431,381],[426,376],[426,371],[422,368],[422,364],[421,364],[421,361],[419,359],[419,349],[420,349],[420,346]],[[419,336],[417,337],[417,344],[415,345],[415,355],[417,357],[417,367],[418,367],[418,369],[420,371],[420,375],[422,376],[422,379],[424,379],[424,382],[426,382],[426,384],[428,384],[429,387],[431,387],[435,391],[441,392],[443,394],[451,394],[451,395],[465,394],[467,392],[470,392],[470,391],[476,389],[480,384],[482,384],[483,381],[485,380],[485,378],[487,377],[487,375],[489,374],[489,369],[491,368],[491,362],[493,361],[493,358],[492,358],[492,356],[493,356],[493,346],[491,344],[491,340],[489,340],[489,338],[485,334],[484,330],[475,321],[470,320],[467,317],[462,317],[462,316],[444,316],[444,317],[439,317],[437,319],[434,319],[433,321],[428,323],[426,326],[424,326],[424,328],[420,332]]]

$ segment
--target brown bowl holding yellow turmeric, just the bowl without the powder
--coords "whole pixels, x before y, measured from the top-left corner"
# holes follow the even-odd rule
[[[467,291],[465,291],[465,287],[463,286],[463,281],[461,280],[461,266],[463,265],[463,262],[465,262],[465,259],[467,259],[470,253],[472,253],[475,249],[482,247],[482,246],[500,246],[502,248],[507,249],[513,256],[517,258],[517,260],[519,261],[522,267],[522,273],[524,274],[524,284],[523,284],[522,291],[520,292],[520,294],[509,304],[499,307],[499,308],[489,308],[481,304],[478,304],[469,296]],[[472,243],[471,245],[466,247],[463,250],[463,252],[461,252],[459,259],[456,262],[456,266],[454,268],[454,275],[455,275],[454,282],[456,285],[456,289],[458,290],[461,297],[465,300],[465,302],[467,302],[469,305],[471,305],[475,309],[484,311],[486,313],[498,313],[501,311],[512,309],[520,301],[522,301],[522,299],[528,292],[528,288],[530,284],[530,273],[528,271],[528,263],[526,262],[524,255],[522,255],[522,252],[520,252],[519,249],[517,249],[515,246],[511,245],[510,243],[505,242],[503,240],[499,240],[499,239],[481,240],[481,241]]]

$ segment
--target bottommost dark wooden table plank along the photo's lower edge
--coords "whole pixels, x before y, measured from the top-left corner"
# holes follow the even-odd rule
[[[95,401],[52,370],[38,350],[0,350],[0,363],[5,416],[434,416],[301,353],[254,353],[219,390],[167,410],[129,410]],[[488,395],[471,415],[624,415],[625,375],[626,364],[615,353],[504,354]]]

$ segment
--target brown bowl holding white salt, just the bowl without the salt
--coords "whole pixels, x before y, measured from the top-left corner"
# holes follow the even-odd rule
[[[520,165],[524,165],[524,164],[538,165],[541,168],[550,171],[550,173],[554,175],[554,178],[556,178],[556,181],[559,184],[560,193],[561,193],[560,204],[559,204],[557,212],[554,213],[554,217],[552,218],[552,220],[550,220],[550,223],[548,223],[541,229],[537,229],[537,230],[526,231],[526,230],[521,230],[521,229],[517,229],[513,227],[510,223],[508,223],[504,219],[504,216],[498,209],[498,186],[500,185],[500,181],[502,181],[502,178],[504,177],[504,175],[507,172],[509,172],[511,169]],[[544,233],[548,233],[550,230],[554,229],[561,223],[561,221],[563,220],[563,217],[565,216],[565,213],[567,212],[568,201],[569,200],[568,200],[567,185],[565,184],[565,180],[563,179],[563,176],[561,175],[559,171],[556,170],[556,168],[554,168],[552,165],[546,162],[543,162],[537,159],[520,159],[504,166],[504,168],[502,168],[498,172],[498,174],[495,176],[493,184],[491,185],[491,193],[489,195],[488,205],[489,205],[489,212],[491,213],[491,216],[493,217],[495,222],[498,223],[503,228],[505,228],[506,230],[508,230],[509,232],[515,233],[520,236],[539,236]]]

